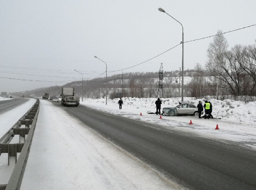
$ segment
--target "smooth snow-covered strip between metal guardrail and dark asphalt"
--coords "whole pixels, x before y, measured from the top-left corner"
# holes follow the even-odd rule
[[[58,104],[58,103],[56,103]],[[52,102],[40,100],[21,190],[181,189]]]

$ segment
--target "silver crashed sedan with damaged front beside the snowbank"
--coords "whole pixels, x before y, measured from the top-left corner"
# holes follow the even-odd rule
[[[165,107],[162,110],[164,116],[198,116],[198,109],[188,102],[179,102],[176,107]]]

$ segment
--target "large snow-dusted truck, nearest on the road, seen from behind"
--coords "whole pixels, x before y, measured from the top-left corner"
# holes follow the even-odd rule
[[[77,107],[79,105],[80,97],[74,96],[74,90],[74,88],[62,88],[62,94],[60,94],[60,96],[63,106],[74,105]]]

